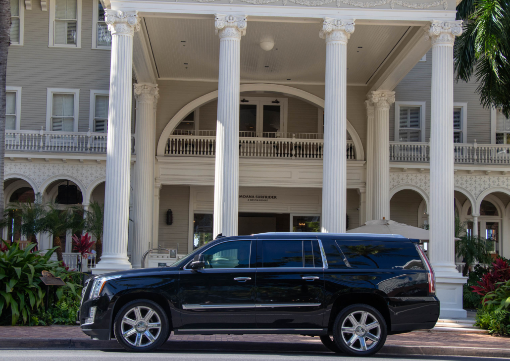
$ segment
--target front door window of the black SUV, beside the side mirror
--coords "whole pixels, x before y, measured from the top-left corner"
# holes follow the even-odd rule
[[[214,246],[202,254],[205,267],[210,268],[249,268],[251,241],[232,241]]]

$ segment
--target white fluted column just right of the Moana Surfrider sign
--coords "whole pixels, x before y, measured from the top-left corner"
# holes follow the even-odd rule
[[[345,232],[347,201],[347,40],[354,19],[324,17],[319,36],[326,39],[322,231]]]

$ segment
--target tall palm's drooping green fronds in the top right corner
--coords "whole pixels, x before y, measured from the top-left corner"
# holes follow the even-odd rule
[[[468,82],[474,74],[484,108],[501,109],[510,117],[510,19],[507,0],[464,0],[457,19],[464,32],[454,47],[456,80]]]

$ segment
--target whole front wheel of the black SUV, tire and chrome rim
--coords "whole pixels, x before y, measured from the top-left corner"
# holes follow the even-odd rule
[[[168,339],[168,317],[156,302],[134,300],[120,308],[115,317],[113,332],[119,344],[127,351],[153,351]]]

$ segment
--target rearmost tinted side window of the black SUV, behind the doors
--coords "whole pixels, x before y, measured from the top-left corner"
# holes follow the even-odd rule
[[[424,269],[410,242],[337,241],[352,268]]]

